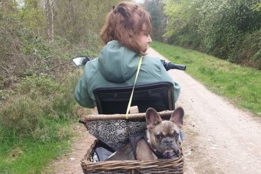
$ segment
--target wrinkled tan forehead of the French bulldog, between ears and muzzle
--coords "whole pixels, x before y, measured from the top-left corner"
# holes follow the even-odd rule
[[[179,132],[178,126],[171,121],[163,120],[159,125],[155,126],[154,132],[162,132],[165,135],[171,135]]]

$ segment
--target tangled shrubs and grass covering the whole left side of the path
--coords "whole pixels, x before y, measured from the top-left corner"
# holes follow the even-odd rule
[[[71,58],[99,54],[99,27],[118,1],[55,1],[54,42],[44,1],[16,2],[0,4],[0,173],[41,173],[67,152],[78,120]]]

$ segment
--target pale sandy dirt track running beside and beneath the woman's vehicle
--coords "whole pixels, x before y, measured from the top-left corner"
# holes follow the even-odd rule
[[[158,53],[149,49],[149,54]],[[261,173],[261,119],[212,94],[183,71],[169,74],[181,86],[176,106],[185,110],[185,173]],[[49,173],[81,173],[81,158],[93,138],[79,126],[74,151],[53,161]]]

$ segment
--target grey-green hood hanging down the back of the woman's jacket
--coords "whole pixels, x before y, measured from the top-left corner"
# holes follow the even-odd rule
[[[99,70],[108,81],[124,82],[135,74],[139,58],[139,54],[112,40],[100,52]]]

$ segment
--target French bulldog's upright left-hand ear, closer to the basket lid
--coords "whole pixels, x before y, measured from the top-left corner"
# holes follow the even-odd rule
[[[162,122],[160,115],[153,108],[149,108],[146,110],[146,125],[147,128],[153,128],[155,125],[158,125]]]

